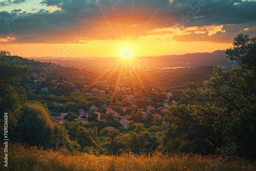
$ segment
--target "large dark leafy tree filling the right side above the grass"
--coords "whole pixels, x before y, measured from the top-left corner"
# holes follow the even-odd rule
[[[239,148],[234,154],[255,158],[256,38],[239,34],[233,46],[226,51],[227,58],[239,65],[230,69],[215,68],[214,75],[203,84],[188,82],[185,97],[180,101],[188,105],[170,106],[172,111],[165,115],[165,121],[172,124],[170,130],[173,130],[166,136],[175,136],[174,140],[179,137],[180,142],[191,139],[204,148],[203,152],[207,149],[207,153],[212,149],[222,153],[230,149],[230,144],[236,144]],[[181,147],[179,141],[176,144],[176,148]],[[194,144],[182,146],[195,149]],[[199,150],[199,153],[202,152]]]

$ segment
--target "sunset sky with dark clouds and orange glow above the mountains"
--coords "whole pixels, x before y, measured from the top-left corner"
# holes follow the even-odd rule
[[[3,0],[0,50],[23,57],[213,52],[256,36],[256,1]]]

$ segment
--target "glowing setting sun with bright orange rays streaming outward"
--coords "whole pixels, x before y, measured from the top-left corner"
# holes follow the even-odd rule
[[[99,81],[102,77],[104,77],[104,80],[106,80],[106,83],[113,85],[114,90],[112,92],[112,100],[111,104],[113,103],[113,99],[116,96],[117,90],[116,87],[124,86],[124,82],[129,84],[129,87],[134,87],[136,85],[140,85],[140,87],[144,87],[144,84],[140,78],[140,72],[143,71],[144,67],[147,66],[147,63],[144,59],[141,57],[136,56],[136,53],[139,52],[137,49],[137,45],[135,41],[133,40],[122,40],[122,37],[118,37],[109,22],[108,17],[105,15],[102,8],[99,6],[99,9],[106,21],[106,23],[109,25],[109,28],[113,32],[113,35],[116,38],[117,44],[116,44],[116,54],[119,56],[117,57],[117,60],[114,64],[108,66],[105,68],[104,72],[99,75],[99,77],[94,81]],[[148,22],[145,23],[145,27],[143,27],[141,30],[138,30],[140,32],[140,35],[143,34],[146,27],[151,23],[151,20],[154,18],[156,12],[158,11],[159,7],[156,8],[152,16],[148,19]],[[95,29],[97,30],[97,29]],[[127,33],[129,34],[129,33]],[[131,36],[131,35],[130,35]],[[111,79],[115,78],[115,81],[111,81]]]

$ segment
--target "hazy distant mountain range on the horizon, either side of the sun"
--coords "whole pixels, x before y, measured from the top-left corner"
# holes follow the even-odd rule
[[[206,53],[188,53],[184,55],[165,55],[165,56],[148,56],[137,57],[142,60],[147,60],[149,66],[151,65],[165,65],[175,66],[175,63],[197,63],[193,66],[218,66],[226,65],[227,59],[225,58],[225,50],[217,50],[214,52]],[[86,68],[90,65],[113,65],[117,62],[117,57],[27,57],[29,59],[38,60],[41,62],[54,62],[61,66]],[[184,66],[184,65],[183,65]]]

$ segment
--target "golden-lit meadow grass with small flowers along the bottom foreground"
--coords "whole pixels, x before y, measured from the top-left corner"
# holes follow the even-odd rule
[[[1,147],[0,170],[3,168],[3,152]],[[44,151],[37,147],[9,144],[8,167],[4,170],[256,170],[256,163],[236,156],[225,160],[217,155],[194,154],[95,156],[70,153],[66,149]]]

